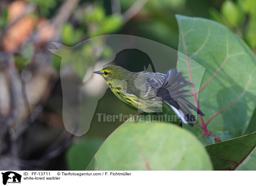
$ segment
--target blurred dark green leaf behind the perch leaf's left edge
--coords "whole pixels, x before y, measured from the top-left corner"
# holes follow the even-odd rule
[[[67,151],[67,163],[72,171],[82,171],[88,166],[104,139],[85,138],[70,146]]]

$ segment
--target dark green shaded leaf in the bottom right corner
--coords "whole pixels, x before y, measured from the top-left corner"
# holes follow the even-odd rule
[[[250,154],[256,146],[256,132],[247,134],[242,137],[230,139],[224,142],[207,145],[206,149],[211,157],[214,170],[235,170],[244,159]],[[253,164],[248,164],[246,161],[239,168],[240,170],[250,167],[255,170],[256,157],[255,151],[250,154],[250,161]],[[251,162],[251,163],[252,163]]]

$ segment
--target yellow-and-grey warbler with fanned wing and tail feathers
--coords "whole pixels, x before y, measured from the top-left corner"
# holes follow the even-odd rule
[[[186,99],[190,95],[184,93],[189,90],[183,90],[183,87],[190,83],[176,69],[169,70],[167,74],[133,73],[113,65],[93,73],[100,74],[119,99],[143,112],[157,112],[166,103],[184,124],[189,123],[192,126],[196,120],[186,119],[187,114],[192,116],[189,108],[204,116],[201,110]]]

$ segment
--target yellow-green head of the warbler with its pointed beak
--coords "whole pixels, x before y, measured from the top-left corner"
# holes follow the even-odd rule
[[[106,82],[113,81],[113,80],[122,80],[125,77],[125,74],[129,73],[128,70],[113,65],[103,68],[102,70],[95,71],[93,73],[100,74]]]

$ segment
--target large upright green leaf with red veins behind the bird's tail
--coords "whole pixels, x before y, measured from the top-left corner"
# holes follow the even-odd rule
[[[177,15],[180,29],[177,68],[188,76],[188,60],[202,119],[186,127],[204,144],[246,134],[256,106],[256,58],[238,36],[215,21]],[[185,45],[184,45],[185,44]],[[186,52],[190,58],[186,57]],[[206,69],[204,72],[204,68]],[[202,79],[202,81],[201,81]],[[189,100],[195,104],[195,97]],[[207,127],[205,126],[208,124]]]

